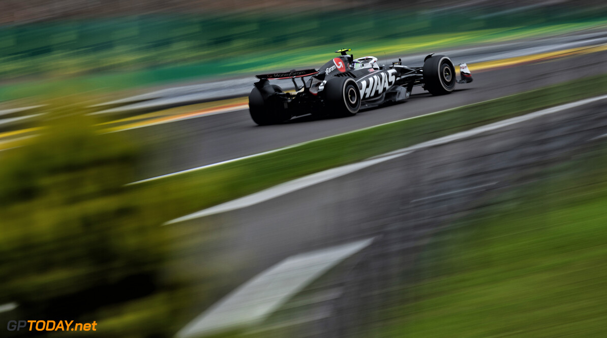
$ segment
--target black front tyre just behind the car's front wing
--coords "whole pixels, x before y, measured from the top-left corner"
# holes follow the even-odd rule
[[[424,89],[432,95],[449,94],[455,89],[455,67],[447,56],[435,55],[424,62]]]

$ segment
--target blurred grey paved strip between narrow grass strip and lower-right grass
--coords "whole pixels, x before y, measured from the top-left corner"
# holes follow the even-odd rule
[[[607,133],[606,113],[605,100],[594,102],[424,148],[252,207],[188,223],[230,229],[224,242],[205,250],[243,267],[231,279],[232,287],[293,254],[374,237],[355,261],[306,291],[310,298],[330,292],[338,297],[305,305],[290,316],[323,315],[288,331],[291,337],[368,336],[368,325],[381,325],[374,310],[395,305],[395,296],[403,291],[394,287],[415,279],[416,259],[433,234],[487,204],[492,196],[537,181],[544,169],[605,142],[607,138],[589,140]]]

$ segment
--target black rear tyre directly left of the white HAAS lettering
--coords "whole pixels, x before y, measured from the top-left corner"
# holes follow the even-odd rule
[[[361,109],[361,92],[351,78],[330,79],[323,92],[331,116],[353,116]]]

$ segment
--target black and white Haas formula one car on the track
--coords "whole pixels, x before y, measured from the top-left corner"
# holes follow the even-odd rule
[[[320,70],[291,70],[256,75],[259,82],[249,94],[251,118],[258,125],[277,124],[296,116],[317,114],[352,116],[361,108],[404,102],[415,86],[433,95],[449,94],[456,83],[472,82],[466,64],[459,65],[460,79],[447,56],[426,56],[423,67],[406,67],[400,59],[392,65],[377,64],[377,58],[354,59],[350,49],[337,50],[340,56]],[[304,79],[310,77],[307,81]],[[298,85],[296,78],[302,79]],[[291,79],[294,92],[285,92],[270,80]]]

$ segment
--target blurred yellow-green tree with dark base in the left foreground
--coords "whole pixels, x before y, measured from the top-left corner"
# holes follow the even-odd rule
[[[124,188],[137,148],[98,134],[81,107],[47,115],[0,168],[0,303],[29,319],[77,319],[158,287],[161,236]]]

